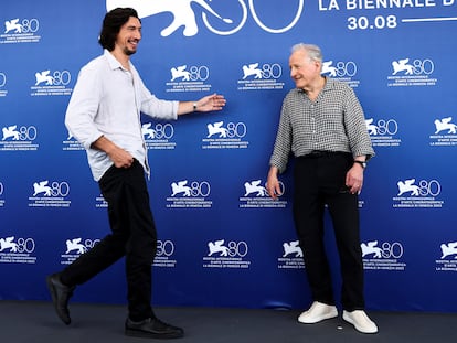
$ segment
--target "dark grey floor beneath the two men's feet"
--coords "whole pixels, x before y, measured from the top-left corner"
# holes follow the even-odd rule
[[[370,312],[380,332],[358,333],[339,319],[299,324],[298,311],[158,308],[158,317],[185,330],[185,343],[456,342],[457,313]],[[124,335],[125,307],[72,303],[72,324],[55,315],[51,302],[0,301],[0,342],[145,342]]]

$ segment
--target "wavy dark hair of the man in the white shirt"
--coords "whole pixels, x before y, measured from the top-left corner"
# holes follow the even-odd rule
[[[137,11],[131,8],[117,8],[106,13],[98,37],[98,43],[103,49],[107,49],[108,51],[115,49],[117,34],[119,33],[120,28],[128,22],[130,17],[138,18]]]

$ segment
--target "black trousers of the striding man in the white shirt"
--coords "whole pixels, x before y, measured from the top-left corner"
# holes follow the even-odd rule
[[[144,169],[138,161],[128,169],[113,165],[98,184],[108,203],[111,234],[65,268],[62,282],[82,285],[125,256],[129,317],[144,320],[153,315],[151,265],[157,250]]]

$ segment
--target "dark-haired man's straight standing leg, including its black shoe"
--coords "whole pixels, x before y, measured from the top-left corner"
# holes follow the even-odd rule
[[[157,251],[157,233],[142,167],[137,161],[126,172],[124,196],[130,236],[126,246],[129,336],[177,339],[184,331],[156,318],[151,308],[151,268]]]

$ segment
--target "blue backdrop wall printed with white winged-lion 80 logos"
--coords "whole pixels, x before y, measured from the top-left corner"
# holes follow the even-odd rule
[[[64,114],[79,68],[102,53],[107,9],[130,6],[132,62],[160,98],[221,93],[216,114],[144,118],[159,232],[153,301],[304,308],[310,292],[284,195],[265,182],[288,56],[318,44],[349,83],[376,157],[360,196],[366,306],[457,311],[455,0],[9,1],[0,21],[0,299],[49,299],[44,278],[107,232],[106,206]],[[328,221],[334,286],[339,266]],[[125,302],[119,261],[76,301]]]

